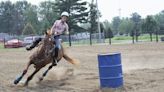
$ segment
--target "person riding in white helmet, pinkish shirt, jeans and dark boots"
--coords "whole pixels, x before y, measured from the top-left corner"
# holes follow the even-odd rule
[[[58,51],[61,49],[60,46],[60,35],[63,34],[63,32],[66,32],[66,34],[69,34],[69,27],[66,21],[68,20],[69,14],[68,12],[62,12],[61,13],[61,19],[56,20],[55,23],[53,24],[51,28],[51,32],[54,35],[55,39],[55,46],[52,51],[55,50],[55,57],[58,57]],[[57,36],[56,36],[57,35]],[[41,38],[35,40],[29,47],[26,47],[26,50],[31,50],[33,49],[39,42],[41,41]]]

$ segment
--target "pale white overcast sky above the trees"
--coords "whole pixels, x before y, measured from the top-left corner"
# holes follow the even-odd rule
[[[0,0],[7,1],[7,0]],[[10,0],[17,1],[17,0]],[[32,4],[37,4],[46,0],[27,0]],[[86,0],[91,2],[91,0]],[[137,12],[143,18],[147,15],[155,15],[164,10],[164,0],[98,0],[99,10],[101,12],[100,20],[111,21],[113,17],[119,16],[121,8],[121,17],[130,17],[133,12]]]

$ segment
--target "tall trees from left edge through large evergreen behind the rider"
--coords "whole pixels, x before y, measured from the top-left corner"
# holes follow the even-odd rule
[[[87,2],[82,0],[44,1],[38,6],[23,0],[12,3],[0,3],[0,32],[9,34],[43,34],[60,18],[63,11],[70,14],[68,21],[71,33],[84,31],[78,23],[87,23],[89,10]],[[77,30],[78,31],[75,31]]]

